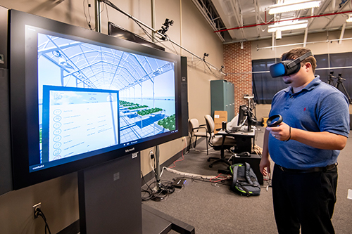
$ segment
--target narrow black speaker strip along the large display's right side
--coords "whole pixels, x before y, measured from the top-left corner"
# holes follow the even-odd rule
[[[182,136],[188,136],[187,57],[181,56]]]

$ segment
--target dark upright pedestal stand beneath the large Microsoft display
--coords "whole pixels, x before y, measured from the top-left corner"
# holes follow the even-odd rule
[[[136,154],[78,172],[80,233],[142,233],[140,158]]]

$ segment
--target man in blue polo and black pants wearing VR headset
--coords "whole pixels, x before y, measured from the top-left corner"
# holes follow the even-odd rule
[[[270,117],[283,121],[267,127],[260,171],[272,176],[272,199],[279,233],[334,233],[337,156],[349,133],[348,99],[315,77],[316,60],[308,48],[282,54],[270,67],[287,89],[272,98]]]

